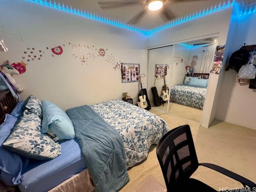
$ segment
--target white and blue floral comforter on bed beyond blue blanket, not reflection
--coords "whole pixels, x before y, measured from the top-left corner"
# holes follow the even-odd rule
[[[89,106],[120,133],[124,142],[127,168],[146,159],[150,146],[157,144],[170,130],[162,118],[122,100],[110,100]]]

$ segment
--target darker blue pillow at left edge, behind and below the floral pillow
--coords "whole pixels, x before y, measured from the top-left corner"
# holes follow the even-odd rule
[[[4,123],[0,125],[0,180],[9,186],[20,184],[24,177],[22,171],[28,165],[28,158],[24,158],[3,148],[2,143],[9,136],[18,118],[10,114],[5,115]]]

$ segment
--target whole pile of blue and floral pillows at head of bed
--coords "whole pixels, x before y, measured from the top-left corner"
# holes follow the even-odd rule
[[[61,154],[57,140],[74,137],[70,118],[55,104],[32,95],[18,102],[0,125],[0,181],[20,184],[30,159],[56,158]]]

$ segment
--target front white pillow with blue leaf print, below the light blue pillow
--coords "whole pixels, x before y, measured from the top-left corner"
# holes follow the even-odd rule
[[[21,156],[50,160],[60,155],[61,146],[50,136],[41,132],[42,119],[28,110],[24,110],[20,122],[16,124],[3,143],[7,150]]]

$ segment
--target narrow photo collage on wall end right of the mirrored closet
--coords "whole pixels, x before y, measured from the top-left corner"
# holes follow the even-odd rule
[[[225,45],[216,46],[216,52],[214,54],[214,60],[211,73],[219,74],[222,69],[222,61],[224,56]]]

